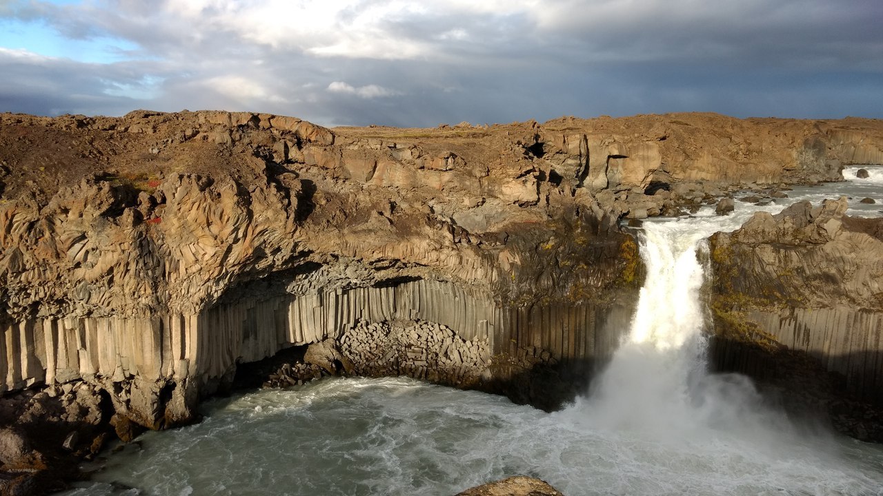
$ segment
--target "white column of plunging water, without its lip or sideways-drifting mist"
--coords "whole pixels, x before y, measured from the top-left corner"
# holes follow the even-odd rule
[[[691,382],[705,366],[705,267],[697,250],[706,236],[695,219],[645,223],[645,284],[630,333],[587,400],[594,422],[667,434],[691,425],[692,418],[684,424],[692,417]]]

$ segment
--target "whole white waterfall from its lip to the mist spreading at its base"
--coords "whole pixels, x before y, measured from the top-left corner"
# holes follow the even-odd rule
[[[771,428],[793,430],[762,404],[750,380],[707,372],[706,238],[735,229],[742,217],[645,222],[639,237],[647,273],[630,332],[577,402],[592,425],[658,440],[729,432],[760,443]]]

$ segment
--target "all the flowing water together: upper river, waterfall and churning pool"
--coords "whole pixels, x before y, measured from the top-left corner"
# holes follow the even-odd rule
[[[857,202],[881,194],[883,169],[872,173],[789,201],[849,194],[851,213],[879,215]],[[200,424],[147,432],[65,494],[451,495],[517,474],[569,496],[883,494],[883,447],[796,423],[742,376],[706,372],[697,252],[752,211],[784,207],[736,204],[727,217],[645,222],[630,333],[565,410],[415,380],[321,380],[208,402]]]

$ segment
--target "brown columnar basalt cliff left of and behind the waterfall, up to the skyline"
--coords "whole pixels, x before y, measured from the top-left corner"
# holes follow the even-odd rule
[[[92,392],[107,415],[72,423],[125,438],[192,422],[240,364],[324,343],[351,371],[554,409],[628,327],[642,266],[623,216],[858,162],[883,162],[883,125],[4,114],[0,389],[24,391],[16,411]]]

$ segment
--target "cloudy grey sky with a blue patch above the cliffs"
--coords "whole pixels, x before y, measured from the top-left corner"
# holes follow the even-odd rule
[[[883,118],[883,0],[0,0],[0,111]]]

